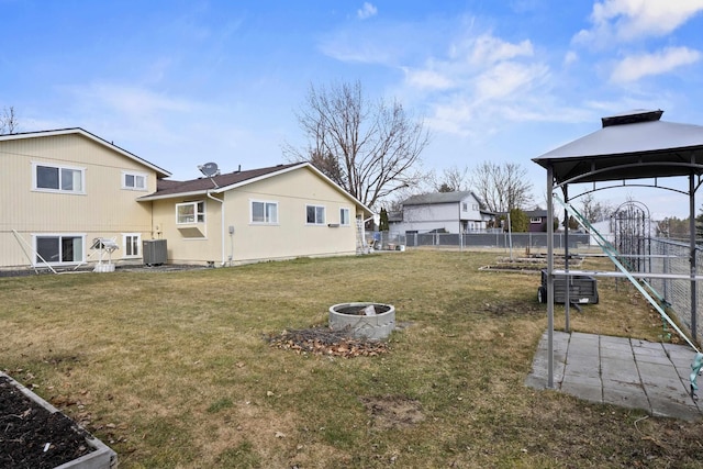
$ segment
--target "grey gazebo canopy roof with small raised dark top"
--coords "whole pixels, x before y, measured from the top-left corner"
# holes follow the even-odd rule
[[[703,126],[660,121],[663,111],[603,118],[603,129],[533,158],[557,185],[703,174]]]

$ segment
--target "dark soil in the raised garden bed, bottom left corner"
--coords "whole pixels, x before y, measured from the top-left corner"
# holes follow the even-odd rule
[[[49,469],[93,450],[90,435],[60,412],[49,412],[0,376],[0,467]]]

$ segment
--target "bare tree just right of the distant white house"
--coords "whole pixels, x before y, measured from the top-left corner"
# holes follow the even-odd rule
[[[516,163],[484,161],[471,175],[471,187],[491,212],[523,209],[533,201],[527,170]]]

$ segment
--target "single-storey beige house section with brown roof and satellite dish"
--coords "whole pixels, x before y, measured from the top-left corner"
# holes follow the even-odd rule
[[[140,201],[152,203],[154,237],[174,264],[356,254],[372,216],[309,163],[160,181]]]

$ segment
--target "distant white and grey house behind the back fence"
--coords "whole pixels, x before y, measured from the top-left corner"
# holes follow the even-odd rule
[[[471,191],[424,193],[403,201],[402,212],[389,214],[389,231],[471,233],[486,230],[491,220],[493,214]]]

